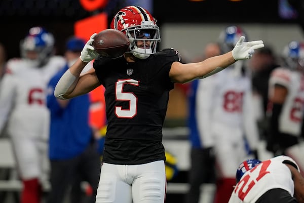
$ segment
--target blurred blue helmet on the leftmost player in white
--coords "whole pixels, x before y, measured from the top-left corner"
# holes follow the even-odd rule
[[[32,66],[41,67],[47,63],[54,49],[54,36],[43,27],[32,27],[27,36],[20,42],[21,57]],[[35,52],[35,58],[29,57],[28,52]]]

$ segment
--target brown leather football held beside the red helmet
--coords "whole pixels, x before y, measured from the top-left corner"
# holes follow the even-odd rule
[[[102,57],[117,58],[129,48],[130,41],[126,34],[116,29],[105,29],[94,37],[93,47]]]

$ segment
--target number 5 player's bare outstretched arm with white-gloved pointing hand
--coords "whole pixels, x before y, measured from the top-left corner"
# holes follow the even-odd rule
[[[208,58],[198,63],[173,62],[169,76],[173,82],[187,83],[193,79],[205,78],[230,66],[238,60],[250,59],[255,49],[264,47],[262,40],[244,42],[241,36],[231,52]]]

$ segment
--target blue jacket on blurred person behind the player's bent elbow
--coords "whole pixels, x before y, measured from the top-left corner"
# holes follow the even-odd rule
[[[61,108],[54,96],[55,86],[67,69],[66,65],[51,78],[48,85],[47,106],[51,112],[49,138],[51,160],[73,158],[81,154],[93,139],[89,126],[89,95],[70,99],[66,108]]]

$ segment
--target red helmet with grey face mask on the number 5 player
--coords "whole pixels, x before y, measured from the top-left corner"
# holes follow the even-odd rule
[[[139,59],[146,59],[150,54],[155,54],[157,43],[161,40],[156,19],[139,6],[127,6],[121,9],[114,16],[110,28],[120,30],[128,36],[130,40],[128,52]],[[143,40],[144,47],[137,47],[137,40]],[[146,43],[147,41],[150,45]]]

